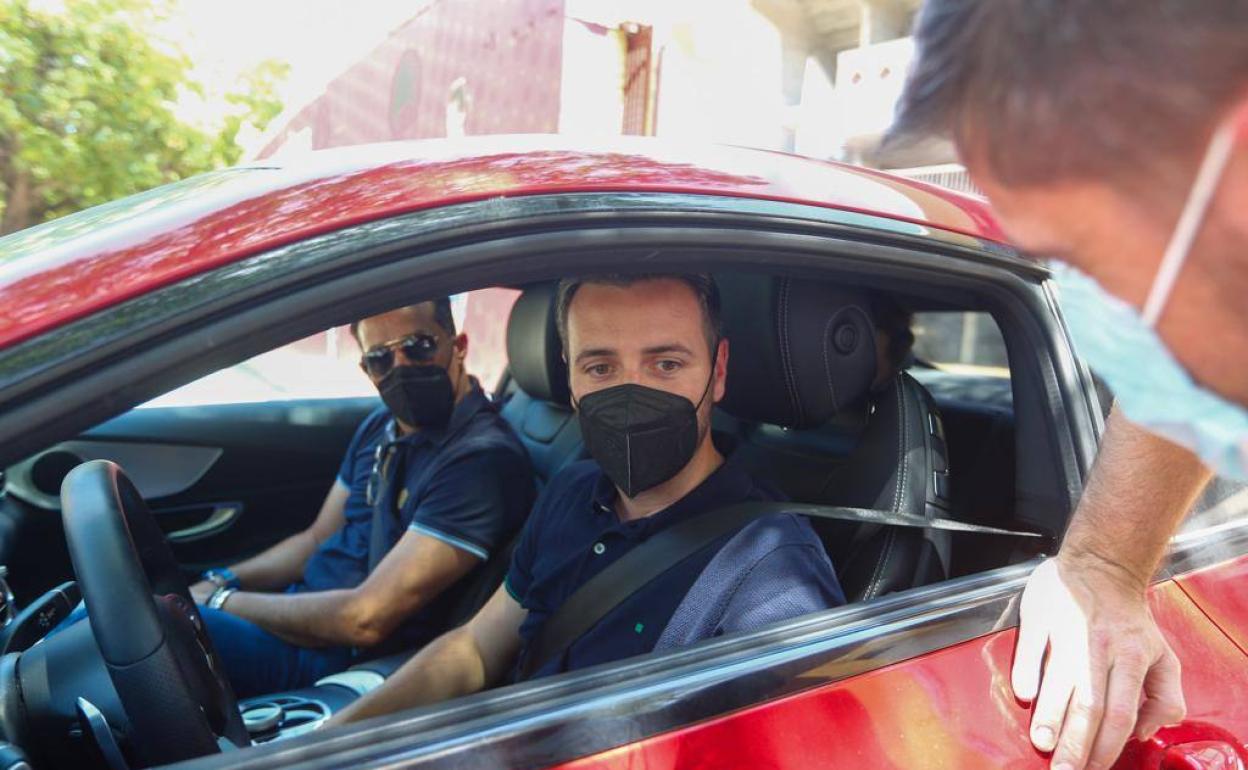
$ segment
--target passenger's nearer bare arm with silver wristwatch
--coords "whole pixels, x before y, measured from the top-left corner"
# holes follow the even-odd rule
[[[306,594],[232,594],[223,610],[302,646],[372,646],[480,560],[442,540],[403,533],[352,589]]]

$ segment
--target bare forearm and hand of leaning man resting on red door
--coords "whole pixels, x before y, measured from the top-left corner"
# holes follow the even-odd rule
[[[1108,768],[1132,731],[1183,718],[1178,659],[1146,592],[1209,477],[1187,449],[1109,414],[1062,548],[1020,608],[1013,690],[1036,703],[1031,740],[1055,769]]]

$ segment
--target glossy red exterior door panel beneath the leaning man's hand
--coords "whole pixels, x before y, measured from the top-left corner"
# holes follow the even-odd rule
[[[1242,748],[1244,654],[1174,583],[1154,587],[1151,604],[1182,660],[1188,701],[1183,730],[1168,740],[1234,736]],[[1027,738],[1031,710],[1010,690],[1013,641],[1013,630],[996,633],[562,768],[1045,770]],[[1158,766],[1164,748],[1133,746],[1116,768]]]

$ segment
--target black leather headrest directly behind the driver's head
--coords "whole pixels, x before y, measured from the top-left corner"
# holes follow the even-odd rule
[[[721,275],[716,282],[730,344],[725,412],[809,428],[862,403],[876,367],[865,293],[785,277]]]

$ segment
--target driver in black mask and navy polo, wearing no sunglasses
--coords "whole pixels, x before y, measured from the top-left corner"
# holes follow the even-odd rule
[[[593,461],[550,479],[489,603],[336,721],[464,695],[509,674],[575,670],[844,602],[810,524],[776,514],[668,569],[567,648],[538,659],[534,640],[547,620],[648,538],[706,512],[775,497],[711,439],[729,342],[708,276],[568,280],[559,287],[558,314]],[[700,580],[704,574],[714,579]],[[698,602],[686,602],[695,584]]]

